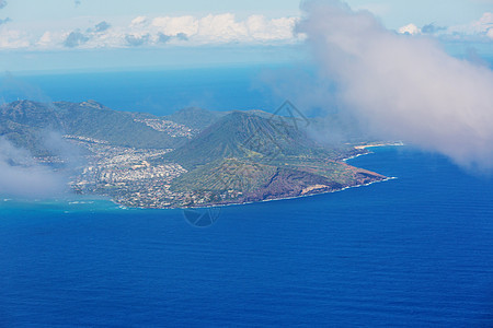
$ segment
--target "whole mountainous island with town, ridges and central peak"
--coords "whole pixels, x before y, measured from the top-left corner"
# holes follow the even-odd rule
[[[368,140],[322,144],[312,138],[316,119],[284,114],[184,108],[154,116],[94,101],[18,101],[0,106],[0,136],[67,172],[73,192],[131,208],[295,198],[387,178],[344,161],[366,153]],[[47,145],[54,133],[71,155]]]

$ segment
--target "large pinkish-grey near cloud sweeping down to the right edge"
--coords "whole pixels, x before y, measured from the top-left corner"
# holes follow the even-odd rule
[[[336,97],[381,138],[493,168],[490,69],[448,56],[431,38],[388,31],[369,12],[339,1],[309,1],[302,10],[298,31],[307,35],[321,79],[335,85],[325,90],[331,104]]]

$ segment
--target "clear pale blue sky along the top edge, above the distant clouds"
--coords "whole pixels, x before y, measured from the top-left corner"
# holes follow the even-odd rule
[[[234,12],[239,16],[265,14],[267,16],[299,15],[299,0],[10,0],[2,10],[4,16],[26,23],[37,21],[66,21],[81,16],[101,19],[131,17],[136,15],[207,15]],[[467,24],[484,12],[493,11],[491,0],[348,0],[352,8],[369,9],[382,19],[387,27],[398,28],[408,23],[446,25]],[[28,10],[26,10],[28,9]]]

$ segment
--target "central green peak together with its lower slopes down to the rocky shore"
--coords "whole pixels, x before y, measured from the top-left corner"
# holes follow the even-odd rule
[[[355,153],[318,144],[285,117],[232,112],[163,159],[188,169],[171,190],[195,207],[299,197],[385,178],[337,161]]]

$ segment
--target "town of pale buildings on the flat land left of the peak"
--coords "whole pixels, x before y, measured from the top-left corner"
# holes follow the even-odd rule
[[[85,163],[71,177],[77,194],[99,194],[133,208],[170,207],[176,196],[171,180],[187,171],[176,163],[151,164],[172,149],[134,149],[113,147],[103,140],[64,136],[87,151]]]

